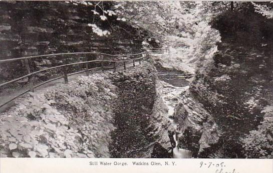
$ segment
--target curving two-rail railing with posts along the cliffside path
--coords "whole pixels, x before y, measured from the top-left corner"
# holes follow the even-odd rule
[[[103,59],[88,61],[86,56],[87,55],[92,55],[92,54],[93,55],[95,55],[95,54],[102,55],[103,57],[104,56],[117,57],[117,58],[123,59],[123,60],[114,61],[114,60],[106,60],[106,59],[103,58]],[[46,69],[43,69],[43,70],[35,71],[35,72],[31,71],[30,64],[29,64],[30,59],[42,58],[42,57],[47,57],[48,58],[48,57],[56,57],[56,56],[62,56],[64,59],[66,59],[67,56],[69,56],[69,55],[83,55],[83,56],[85,56],[85,59],[87,61],[81,61],[81,62],[70,63],[70,64],[63,64],[63,65],[54,66],[54,67],[46,68]],[[130,57],[130,56],[134,56],[134,57],[139,56],[139,57],[128,59],[128,57]],[[3,64],[3,63],[5,64],[5,63],[8,63],[8,62],[20,61],[20,60],[22,61],[23,60],[24,63],[25,63],[26,71],[28,72],[27,75],[24,75],[24,76],[21,76],[19,78],[16,78],[16,79],[13,79],[13,80],[10,80],[10,81],[7,81],[5,83],[0,84],[0,88],[3,88],[4,86],[7,86],[8,84],[12,84],[14,82],[17,82],[19,80],[22,80],[22,79],[24,79],[26,77],[28,77],[28,82],[29,82],[29,89],[27,91],[24,91],[24,92],[22,92],[22,93],[20,93],[20,94],[18,94],[16,96],[14,96],[13,98],[7,100],[5,103],[0,105],[0,108],[3,107],[4,105],[10,103],[11,101],[15,100],[16,98],[24,95],[25,93],[27,93],[29,91],[34,92],[35,88],[37,88],[39,86],[42,86],[42,85],[44,85],[46,83],[49,83],[49,82],[64,78],[64,82],[67,84],[69,82],[68,81],[68,76],[75,75],[75,74],[78,74],[78,73],[83,73],[83,72],[85,72],[86,75],[88,76],[89,72],[92,71],[92,70],[101,70],[102,72],[104,72],[106,69],[114,69],[114,71],[116,71],[120,67],[122,67],[122,68],[124,68],[126,70],[126,64],[128,65],[128,63],[129,63],[129,64],[133,65],[133,67],[135,67],[137,62],[139,64],[141,64],[141,61],[147,60],[148,58],[149,58],[148,51],[145,51],[145,52],[141,52],[141,53],[138,53],[138,54],[127,54],[127,55],[111,55],[111,54],[98,53],[98,52],[59,53],[59,54],[36,55],[36,56],[28,56],[28,57],[20,57],[20,58],[0,60],[0,64]],[[67,61],[65,61],[65,62],[67,62]],[[89,68],[90,63],[96,63],[96,62],[100,62],[101,66],[100,67]],[[113,64],[113,66],[105,66],[105,63]],[[68,73],[68,67],[72,66],[72,65],[78,65],[78,64],[85,64],[85,69],[69,74]],[[120,64],[122,64],[122,65],[120,65]],[[56,77],[54,79],[50,79],[50,80],[47,80],[47,81],[45,81],[43,83],[40,83],[38,85],[34,85],[33,76],[35,74],[45,72],[45,71],[48,71],[48,70],[52,70],[52,69],[57,69],[57,68],[62,68],[62,71],[63,71],[62,76],[58,76],[58,77]]]

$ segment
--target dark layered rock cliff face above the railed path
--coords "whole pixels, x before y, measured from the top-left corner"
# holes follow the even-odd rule
[[[111,2],[105,3],[105,9]],[[74,5],[62,1],[52,2],[0,2],[0,59],[64,52],[140,52],[140,35],[135,29],[116,18],[101,21],[93,15],[92,6]],[[111,35],[99,37],[88,24],[107,29]],[[128,32],[124,32],[122,29]],[[122,41],[121,41],[122,40]],[[134,45],[134,46],[132,46]],[[70,57],[73,61],[74,57]],[[79,57],[80,59],[83,57]],[[89,57],[90,60],[98,57]],[[77,59],[78,60],[78,59]],[[33,69],[62,64],[62,57],[35,59]],[[26,73],[22,62],[0,65],[0,79],[8,80]],[[22,70],[19,70],[22,69]]]

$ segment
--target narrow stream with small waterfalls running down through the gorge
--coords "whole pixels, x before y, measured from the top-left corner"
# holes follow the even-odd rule
[[[185,73],[175,69],[163,68],[157,66],[158,82],[157,91],[162,97],[163,105],[166,106],[167,112],[165,118],[168,119],[170,125],[168,128],[168,140],[170,142],[169,149],[171,149],[172,158],[191,158],[192,152],[185,146],[180,145],[177,141],[177,135],[181,132],[181,124],[176,121],[175,107],[179,105],[179,101],[184,97],[185,91],[188,89],[191,81],[190,73]],[[185,148],[185,149],[184,149]]]

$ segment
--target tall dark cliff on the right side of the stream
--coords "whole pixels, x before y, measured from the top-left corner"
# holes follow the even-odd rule
[[[240,139],[257,129],[263,108],[272,104],[271,24],[248,9],[227,12],[212,23],[222,42],[197,70],[175,113],[182,128],[179,144],[194,157],[246,157]]]

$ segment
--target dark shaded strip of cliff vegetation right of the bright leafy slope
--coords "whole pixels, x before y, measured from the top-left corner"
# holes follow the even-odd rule
[[[141,68],[115,73],[112,80],[118,88],[118,97],[113,105],[117,128],[111,133],[111,156],[148,157],[149,145],[156,140],[149,135],[153,130],[150,121],[156,96],[155,69],[145,63]]]

